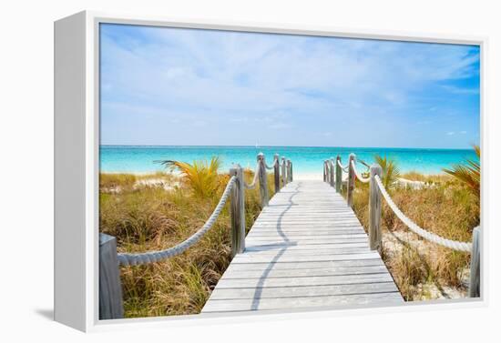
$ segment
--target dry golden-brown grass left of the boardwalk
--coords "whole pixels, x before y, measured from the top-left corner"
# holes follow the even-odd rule
[[[248,182],[251,173],[246,173]],[[179,185],[166,190],[140,179],[165,179]],[[118,238],[118,250],[144,252],[172,247],[189,237],[210,217],[228,176],[218,176],[212,197],[199,197],[169,174],[150,176],[101,174],[101,232]],[[269,191],[272,195],[272,179]],[[111,191],[110,191],[111,190]],[[249,229],[261,211],[259,187],[246,190]],[[230,263],[230,214],[227,206],[214,227],[188,251],[148,266],[121,267],[127,318],[196,314]]]

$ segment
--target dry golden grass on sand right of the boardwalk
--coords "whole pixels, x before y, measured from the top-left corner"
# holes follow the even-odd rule
[[[420,227],[442,237],[471,241],[472,228],[480,220],[478,198],[451,177],[421,180],[441,182],[436,183],[436,187],[423,189],[396,187],[391,190],[395,204]],[[353,209],[365,228],[369,225],[368,196],[368,186],[357,182]],[[469,254],[438,247],[408,234],[409,229],[394,216],[384,200],[382,228],[382,256],[404,298],[434,298],[424,294],[423,285],[430,283],[437,288],[463,288]]]

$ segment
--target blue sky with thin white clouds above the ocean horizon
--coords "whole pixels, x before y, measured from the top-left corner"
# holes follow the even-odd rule
[[[101,25],[101,144],[463,148],[479,48]]]

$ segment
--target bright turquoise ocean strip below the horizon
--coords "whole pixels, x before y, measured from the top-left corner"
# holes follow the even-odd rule
[[[475,158],[473,149],[427,149],[394,147],[332,146],[100,146],[100,171],[104,173],[153,173],[165,170],[158,160],[171,159],[191,163],[193,160],[220,156],[221,172],[233,163],[254,168],[256,155],[262,152],[269,165],[274,154],[291,159],[294,174],[322,174],[325,159],[341,155],[346,163],[350,153],[367,163],[375,155],[394,159],[402,172],[417,171],[439,174],[442,168]]]

